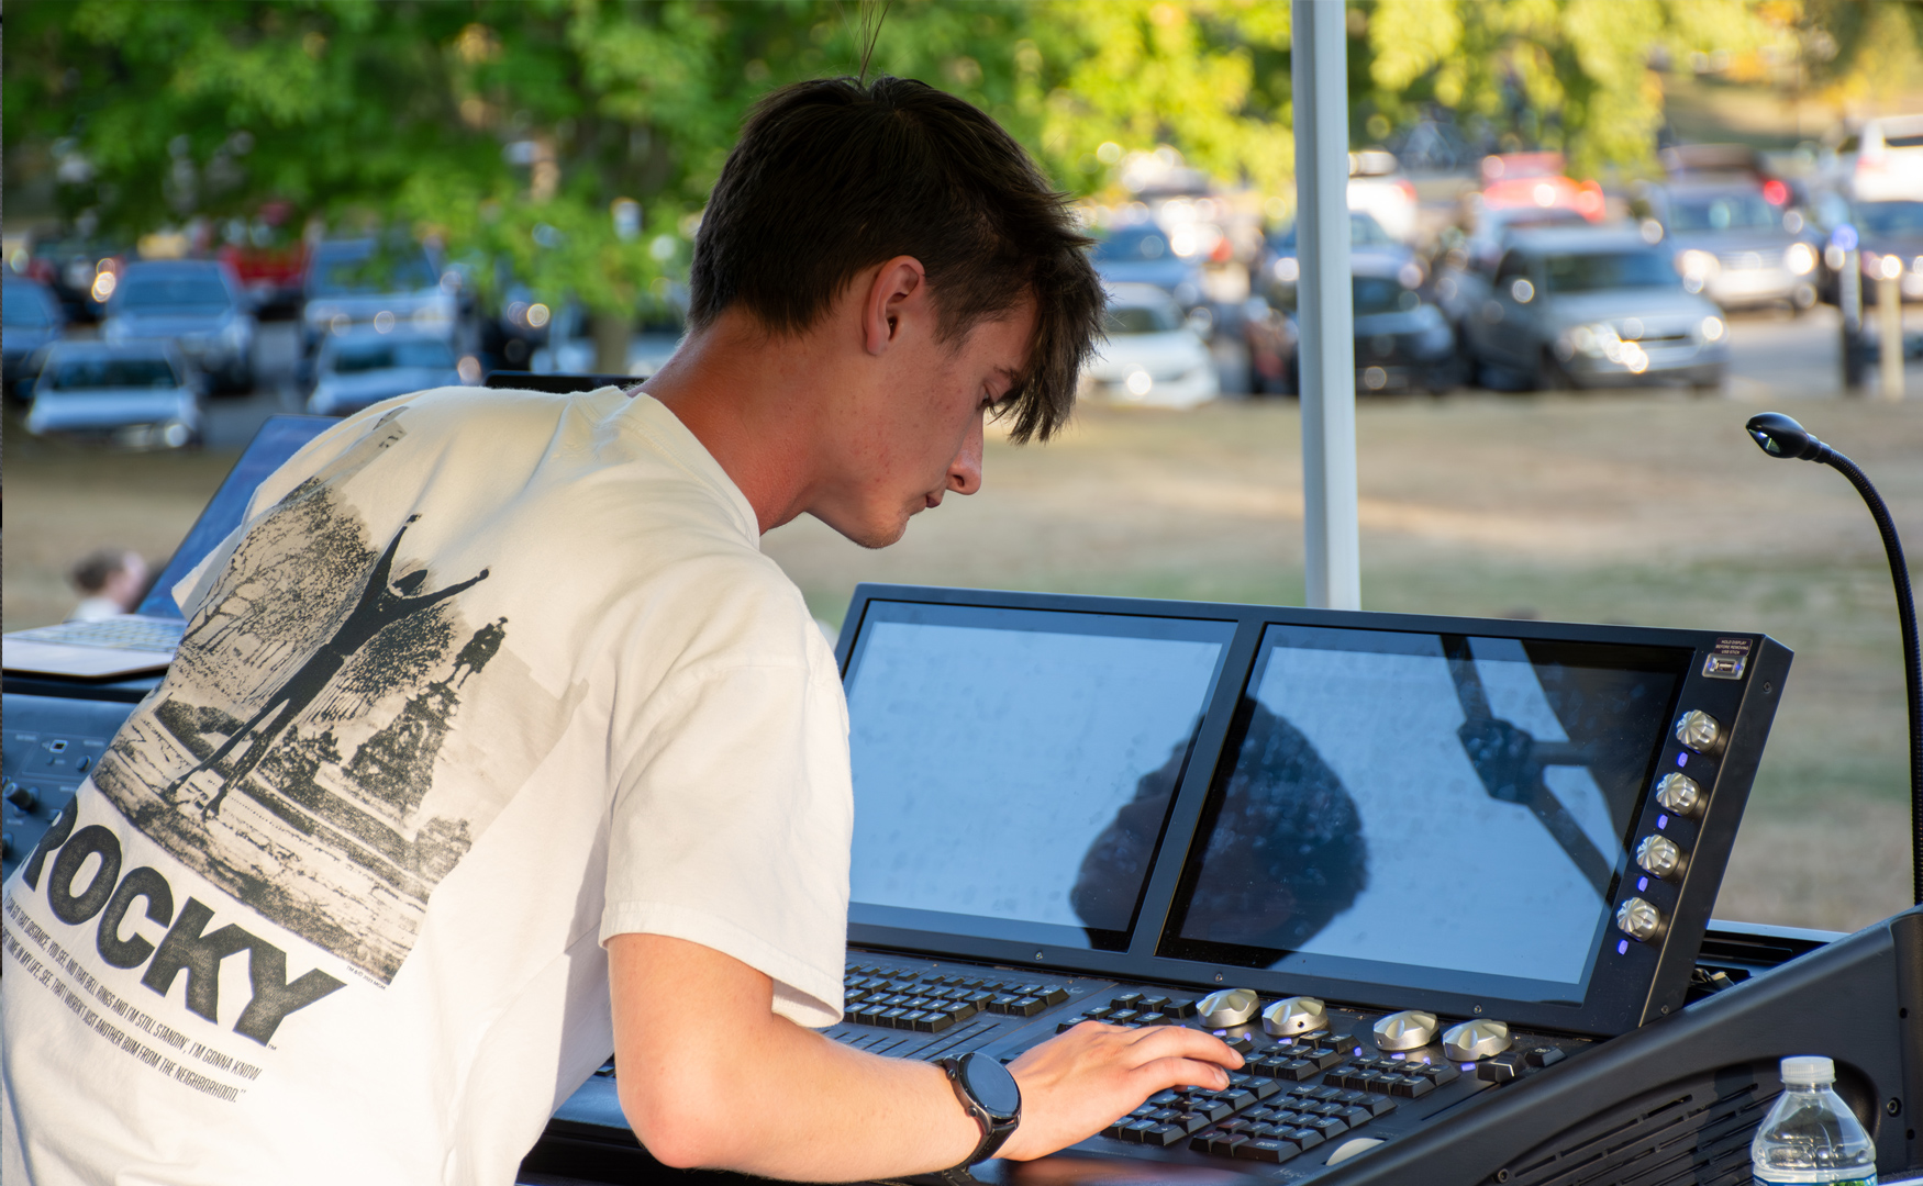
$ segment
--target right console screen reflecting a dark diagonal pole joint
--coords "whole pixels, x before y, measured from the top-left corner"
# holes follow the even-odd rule
[[[1579,1003],[1690,654],[1269,625],[1161,953]]]

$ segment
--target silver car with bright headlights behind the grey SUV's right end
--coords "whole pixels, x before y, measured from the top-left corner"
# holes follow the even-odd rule
[[[1758,183],[1650,186],[1646,194],[1690,292],[1725,309],[1786,304],[1800,313],[1815,304],[1821,252],[1788,229]]]

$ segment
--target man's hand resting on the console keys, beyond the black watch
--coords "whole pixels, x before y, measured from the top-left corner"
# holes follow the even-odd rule
[[[1054,1153],[1165,1088],[1225,1088],[1227,1071],[1240,1065],[1242,1055],[1202,1030],[1085,1021],[1008,1065],[1021,1086],[1021,1126],[998,1155],[1027,1161]]]

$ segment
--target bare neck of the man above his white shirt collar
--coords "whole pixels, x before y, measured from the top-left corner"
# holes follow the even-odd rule
[[[806,509],[827,354],[817,334],[769,336],[731,309],[640,384],[740,488],[762,532]]]

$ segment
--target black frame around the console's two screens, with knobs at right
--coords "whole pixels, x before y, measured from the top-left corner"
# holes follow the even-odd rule
[[[1210,602],[1160,602],[1079,594],[1040,594],[1010,590],[937,588],[910,584],[858,584],[848,605],[837,659],[846,673],[871,602],[927,602],[942,605],[981,605],[1013,609],[1067,609],[1083,613],[1125,613],[1146,617],[1202,617],[1235,621],[1235,636],[1223,657],[1210,709],[1196,732],[1188,771],[1175,794],[1148,890],[1136,913],[1135,932],[1125,951],[1100,951],[1033,942],[958,936],[921,927],[850,923],[848,942],[862,948],[892,948],[927,955],[988,961],[1033,969],[1036,976],[1098,975],[1127,980],[1183,984],[1198,990],[1244,986],[1263,996],[1319,996],[1365,1009],[1429,1009],[1444,1019],[1490,1017],[1538,1030],[1613,1036],[1683,1007],[1688,973],[1702,946],[1702,934],[1715,903],[1723,867],[1735,842],[1736,823],[1748,800],[1767,740],[1769,723],[1781,698],[1790,652],[1760,632],[1681,630],[1663,627],[1583,625],[1517,619],[1471,619],[1413,613],[1373,613],[1340,609],[1302,609],[1281,605],[1238,605]],[[1465,994],[1421,982],[1371,982],[1352,976],[1321,976],[1250,969],[1206,959],[1163,955],[1160,946],[1171,923],[1179,880],[1196,840],[1210,790],[1215,784],[1233,715],[1248,690],[1261,632],[1271,623],[1333,629],[1379,629],[1431,634],[1483,634],[1517,640],[1623,642],[1633,646],[1683,648],[1692,652],[1677,694],[1679,705],[1702,707],[1729,723],[1729,742],[1719,757],[1696,759],[1708,805],[1698,819],[1669,821],[1669,834],[1688,840],[1690,863],[1677,884],[1658,882],[1652,900],[1665,907],[1667,930],[1652,944],[1633,944],[1629,957],[1598,959],[1581,1000],[1544,1003]],[[1706,661],[1740,648],[1746,669],[1740,679],[1710,679]],[[1673,763],[1681,746],[1663,742],[1658,765]],[[1652,813],[1638,813],[1636,834],[1650,827]],[[1621,896],[1621,894],[1619,894]],[[1613,934],[1611,934],[1613,938]],[[1611,948],[1613,953],[1613,948]]]

